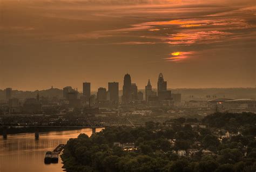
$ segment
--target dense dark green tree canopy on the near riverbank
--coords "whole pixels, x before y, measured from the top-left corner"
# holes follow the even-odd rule
[[[240,119],[241,115],[244,118]],[[224,122],[218,124],[218,121]],[[230,121],[237,122],[234,127],[241,129],[241,133],[231,134],[220,142],[220,131],[233,126],[228,124]],[[191,124],[197,120],[173,122],[171,126],[147,122],[146,127],[108,127],[91,137],[80,134],[65,146],[64,168],[67,171],[255,172],[255,114],[213,114],[203,120],[210,126],[206,128],[192,128]],[[176,139],[173,145],[171,139]],[[125,151],[113,146],[114,142],[134,143],[137,149]],[[198,152],[192,156],[177,155],[177,150],[190,148]],[[204,150],[211,150],[212,154],[205,155]]]

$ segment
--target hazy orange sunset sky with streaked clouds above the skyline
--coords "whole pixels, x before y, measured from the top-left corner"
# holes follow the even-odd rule
[[[2,0],[0,90],[255,87],[254,0]]]

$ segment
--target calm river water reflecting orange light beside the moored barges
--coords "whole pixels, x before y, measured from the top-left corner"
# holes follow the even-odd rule
[[[96,129],[99,132],[101,129]],[[0,172],[59,172],[63,171],[62,161],[56,164],[44,164],[47,151],[52,151],[59,144],[76,138],[80,133],[91,136],[92,129],[68,130],[62,132],[39,133],[35,140],[34,133],[12,134],[7,139],[0,138]]]

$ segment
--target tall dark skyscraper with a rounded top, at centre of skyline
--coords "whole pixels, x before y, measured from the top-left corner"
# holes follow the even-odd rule
[[[132,100],[132,81],[130,74],[125,74],[123,85],[122,103],[127,104]]]

